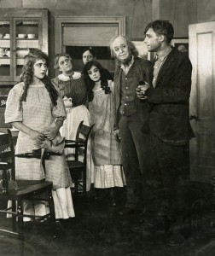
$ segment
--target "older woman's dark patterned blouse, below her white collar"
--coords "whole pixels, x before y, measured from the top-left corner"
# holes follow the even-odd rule
[[[79,79],[70,79],[68,81],[62,81],[56,77],[51,82],[58,87],[62,97],[72,98],[73,107],[86,103],[87,89],[82,76]]]

